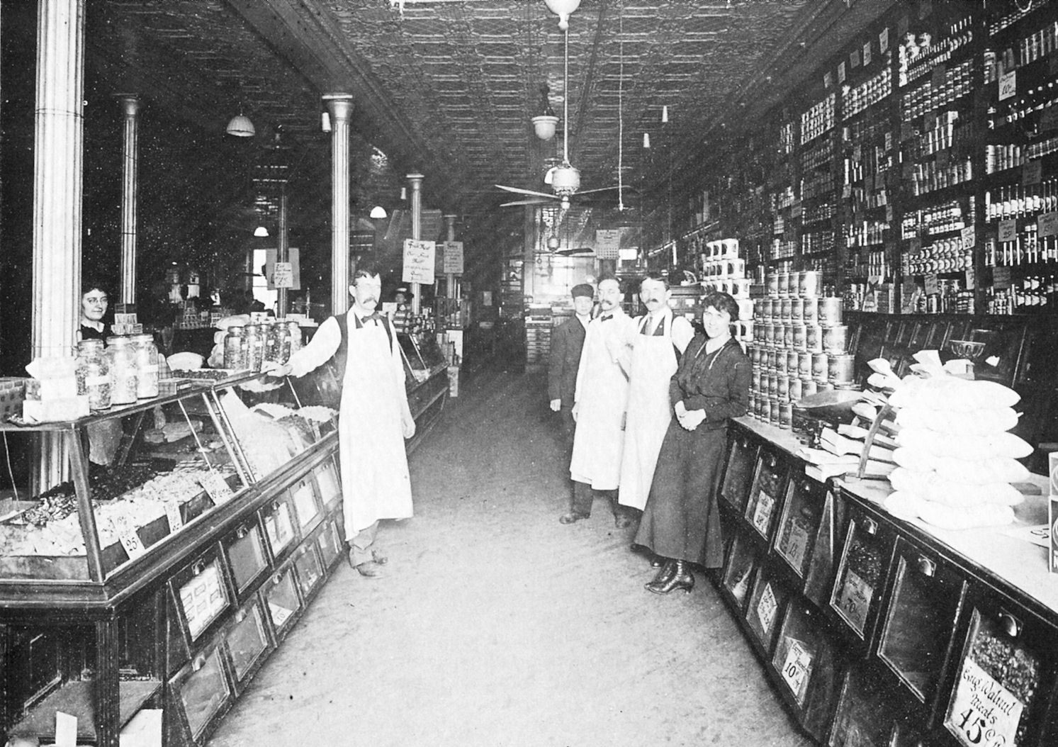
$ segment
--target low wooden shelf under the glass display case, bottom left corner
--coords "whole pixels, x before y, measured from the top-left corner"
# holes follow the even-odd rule
[[[40,702],[22,721],[16,724],[12,736],[36,736],[55,741],[55,712],[69,713],[77,718],[77,742],[95,742],[95,707],[91,681],[67,682]],[[120,725],[128,724],[144,706],[162,690],[158,679],[138,679],[118,682]]]

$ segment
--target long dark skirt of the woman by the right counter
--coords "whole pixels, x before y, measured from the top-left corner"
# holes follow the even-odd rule
[[[636,543],[664,558],[718,568],[724,563],[716,492],[727,429],[669,424]]]

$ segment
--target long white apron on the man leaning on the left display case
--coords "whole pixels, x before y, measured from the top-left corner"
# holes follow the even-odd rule
[[[357,328],[349,314],[349,354],[342,380],[339,453],[346,538],[380,518],[412,515],[412,479],[401,424],[406,395],[399,353],[386,330]]]

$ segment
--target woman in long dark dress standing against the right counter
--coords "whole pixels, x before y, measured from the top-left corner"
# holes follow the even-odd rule
[[[675,418],[658,455],[654,481],[636,544],[661,560],[657,577],[646,584],[655,594],[690,593],[689,564],[718,568],[723,563],[716,491],[727,445],[730,418],[746,414],[750,360],[731,338],[738,305],[727,293],[704,300],[698,333],[687,346],[669,383]]]

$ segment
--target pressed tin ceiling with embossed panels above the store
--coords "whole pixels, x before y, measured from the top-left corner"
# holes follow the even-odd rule
[[[803,63],[795,40],[814,43],[850,5],[883,4],[583,0],[569,21],[568,91],[562,33],[543,0],[89,0],[88,43],[109,93],[141,93],[148,112],[217,132],[241,107],[258,147],[281,140],[284,167],[318,170],[328,194],[321,95],[349,92],[355,132],[390,172],[365,200],[399,206],[404,175],[418,170],[425,206],[521,227],[493,185],[547,190],[562,125],[550,142],[533,135],[542,85],[560,115],[568,96],[582,188],[616,185],[620,158],[622,184],[649,192],[643,133],[677,163],[695,158],[740,103],[786,92],[765,83],[765,68]],[[362,190],[369,177],[353,174]]]

